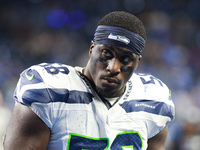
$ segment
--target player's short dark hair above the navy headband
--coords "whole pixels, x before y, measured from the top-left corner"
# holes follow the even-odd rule
[[[135,15],[125,11],[114,11],[105,15],[98,25],[115,26],[139,34],[146,40],[146,31],[142,21]]]

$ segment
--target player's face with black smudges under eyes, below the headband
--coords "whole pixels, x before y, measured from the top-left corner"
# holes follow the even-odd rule
[[[89,79],[95,84],[96,91],[103,97],[118,97],[126,82],[136,70],[141,56],[130,50],[111,45],[90,47]]]

